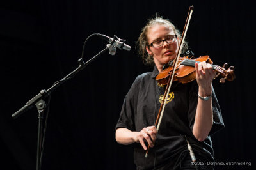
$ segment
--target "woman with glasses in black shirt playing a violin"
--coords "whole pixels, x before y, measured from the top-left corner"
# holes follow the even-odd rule
[[[137,169],[212,169],[211,136],[224,127],[220,106],[212,88],[216,73],[208,63],[195,63],[196,81],[173,82],[158,132],[154,123],[165,87],[156,76],[175,59],[181,35],[161,17],[151,19],[138,39],[139,53],[150,73],[139,75],[127,93],[116,125],[116,141],[134,144]],[[182,51],[186,52],[186,43]],[[189,141],[196,162],[189,155]],[[147,145],[150,146],[145,158]],[[191,163],[192,162],[192,163]]]

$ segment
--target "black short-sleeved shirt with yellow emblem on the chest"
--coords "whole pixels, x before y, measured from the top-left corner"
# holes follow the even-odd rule
[[[165,90],[165,87],[157,86],[155,77],[158,73],[155,66],[153,72],[143,73],[136,78],[124,99],[116,129],[127,128],[140,132],[142,128],[154,125]],[[154,148],[150,148],[148,158],[145,158],[145,150],[140,143],[134,143],[134,162],[137,169],[173,169],[179,166],[184,152],[188,151],[184,135],[188,137],[196,157],[203,161],[214,161],[211,137],[208,136],[200,142],[192,133],[198,102],[197,93],[196,81],[187,84],[173,82],[157,139]],[[213,88],[212,93],[214,122],[209,135],[224,127]]]

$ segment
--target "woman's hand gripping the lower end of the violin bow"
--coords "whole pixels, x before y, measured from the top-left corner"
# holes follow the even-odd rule
[[[155,126],[145,127],[140,132],[138,132],[138,134],[136,134],[134,141],[136,141],[136,143],[140,143],[143,149],[147,150],[145,142],[147,142],[152,148],[156,141],[156,134],[157,130]]]

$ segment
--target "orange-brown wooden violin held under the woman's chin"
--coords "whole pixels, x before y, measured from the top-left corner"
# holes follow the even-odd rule
[[[192,57],[184,56],[179,58],[177,63],[177,67],[175,69],[175,75],[173,77],[173,81],[179,81],[182,84],[191,82],[196,79],[196,71],[195,71],[195,63],[200,63],[205,61],[206,63],[211,64],[212,69],[216,71],[216,77],[221,75],[220,83],[225,83],[225,81],[233,81],[236,78],[234,74],[234,66],[230,66],[228,68],[228,64],[225,63],[223,67],[218,65],[212,65],[212,60],[209,56],[200,56],[199,58],[192,59]],[[159,73],[156,77],[156,81],[159,86],[164,86],[168,83],[170,78],[170,74],[173,70],[173,61],[170,61],[168,67],[165,68],[161,73]],[[215,79],[214,78],[214,79]]]

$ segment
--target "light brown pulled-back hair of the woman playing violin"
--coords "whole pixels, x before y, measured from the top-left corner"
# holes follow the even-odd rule
[[[138,38],[137,41],[137,45],[138,45],[138,53],[140,54],[141,58],[143,59],[143,62],[145,63],[145,65],[150,65],[150,66],[154,66],[154,59],[153,56],[151,56],[150,54],[147,53],[147,49],[146,47],[149,48],[149,44],[148,44],[148,38],[147,38],[147,33],[148,30],[156,25],[164,25],[166,27],[170,27],[175,35],[178,36],[178,38],[181,40],[181,33],[178,29],[175,28],[175,26],[166,19],[163,19],[162,17],[155,17],[154,19],[150,19],[148,20],[148,23],[146,24],[145,27],[143,27],[140,36]],[[182,45],[182,49],[181,52],[185,52],[186,49],[188,49],[188,43],[186,41],[183,42]]]

